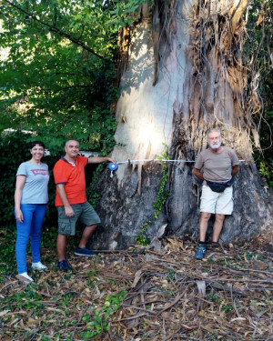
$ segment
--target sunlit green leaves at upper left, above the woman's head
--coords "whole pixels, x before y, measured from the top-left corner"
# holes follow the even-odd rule
[[[117,32],[144,0],[0,3],[0,132],[43,136],[53,154],[76,136],[107,155],[115,145]]]

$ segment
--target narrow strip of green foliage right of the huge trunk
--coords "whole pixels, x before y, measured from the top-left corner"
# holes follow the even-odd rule
[[[261,145],[260,149],[254,150],[254,158],[260,175],[266,178],[269,186],[273,186],[273,73],[269,55],[273,48],[272,12],[272,1],[249,2],[247,39],[244,44],[248,83],[250,85],[254,79],[258,80],[258,95],[262,104],[261,114],[254,116]],[[254,84],[249,86],[251,91]]]

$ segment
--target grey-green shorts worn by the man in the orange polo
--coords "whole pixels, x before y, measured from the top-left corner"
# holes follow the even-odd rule
[[[64,206],[56,207],[58,211],[58,233],[60,235],[75,236],[77,220],[86,226],[100,224],[99,216],[87,201],[83,204],[71,205],[71,207],[75,216],[66,216]]]

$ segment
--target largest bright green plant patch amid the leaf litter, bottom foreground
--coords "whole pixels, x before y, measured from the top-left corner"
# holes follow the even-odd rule
[[[121,290],[119,293],[106,296],[105,305],[101,309],[96,310],[95,318],[90,315],[84,316],[83,321],[87,322],[87,332],[82,332],[80,336],[84,340],[90,340],[94,336],[100,336],[103,332],[109,331],[110,318],[122,304],[126,294],[125,290]]]

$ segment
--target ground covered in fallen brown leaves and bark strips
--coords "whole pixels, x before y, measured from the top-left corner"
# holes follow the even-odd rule
[[[28,286],[2,276],[2,340],[269,340],[272,256],[251,245],[208,246],[194,259],[190,237],[157,251],[135,246],[71,257]],[[252,247],[252,248],[251,248]],[[48,251],[52,259],[54,253]]]

